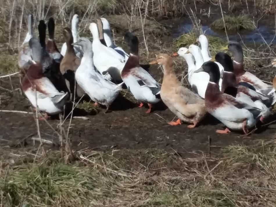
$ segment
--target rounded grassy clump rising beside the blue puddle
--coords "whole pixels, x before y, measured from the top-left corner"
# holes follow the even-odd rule
[[[225,16],[225,26],[228,31],[239,30],[254,30],[254,24],[247,15],[239,15],[236,17]],[[224,30],[223,19],[217,19],[211,24],[211,27],[215,30]]]

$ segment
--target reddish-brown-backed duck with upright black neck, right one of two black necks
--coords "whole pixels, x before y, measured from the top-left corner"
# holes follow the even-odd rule
[[[46,51],[51,55],[55,62],[60,63],[63,56],[60,54],[60,51],[55,44],[55,21],[53,17],[50,17],[48,20],[48,33],[49,39],[46,44]]]

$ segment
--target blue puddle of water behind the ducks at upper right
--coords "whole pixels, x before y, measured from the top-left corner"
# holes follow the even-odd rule
[[[193,24],[183,23],[175,31],[174,36],[179,37],[180,35],[189,33],[191,30],[193,30]],[[205,35],[212,35],[215,37],[221,37],[223,39],[226,39],[226,35],[223,31],[219,31],[219,32],[214,31],[214,30],[212,30],[212,28],[210,28],[209,26],[206,26],[206,25],[202,26],[202,30],[205,33]],[[241,31],[239,34],[237,32],[231,33],[231,34],[228,34],[228,37],[230,40],[235,40],[235,41],[239,41],[240,39],[242,39],[243,42],[247,42],[247,43],[254,43],[254,42],[264,43],[264,40],[261,37],[261,35],[262,35],[268,44],[271,41],[273,43],[276,43],[274,28],[270,28],[270,27],[262,25],[262,26],[258,27],[258,30]],[[241,37],[239,35],[241,35]]]

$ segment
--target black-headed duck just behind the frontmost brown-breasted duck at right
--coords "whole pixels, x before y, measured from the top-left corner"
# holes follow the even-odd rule
[[[264,119],[268,118],[271,114],[270,107],[275,102],[273,96],[265,96],[256,92],[255,88],[246,82],[237,84],[236,76],[233,72],[233,62],[228,54],[222,52],[217,53],[215,59],[224,67],[221,92],[227,93],[240,101],[261,109],[262,116],[260,120],[264,122]]]

